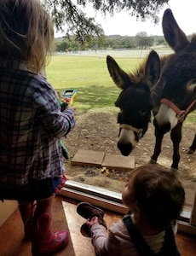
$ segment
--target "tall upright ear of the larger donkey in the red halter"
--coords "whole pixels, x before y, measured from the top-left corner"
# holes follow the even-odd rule
[[[189,44],[187,36],[177,25],[174,15],[172,14],[170,9],[166,9],[164,11],[162,26],[165,40],[176,52],[184,49],[187,44]]]

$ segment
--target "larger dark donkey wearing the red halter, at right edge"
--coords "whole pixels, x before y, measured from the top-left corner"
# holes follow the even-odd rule
[[[187,114],[196,109],[196,35],[189,41],[170,9],[164,11],[162,26],[164,38],[175,53],[165,62],[157,87],[163,90],[159,112],[153,120],[156,143],[151,162],[157,162],[164,133],[170,131],[174,149],[171,169],[176,171],[180,161],[182,123]],[[195,148],[196,134],[187,153],[193,153]]]

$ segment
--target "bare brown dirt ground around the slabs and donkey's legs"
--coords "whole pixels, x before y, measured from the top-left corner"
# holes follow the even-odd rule
[[[112,111],[113,112],[113,111]],[[117,148],[118,124],[117,113],[85,113],[76,116],[77,125],[75,129],[63,138],[70,159],[77,153],[78,149],[98,150],[108,154],[120,154]],[[153,125],[149,124],[147,133],[137,144],[132,155],[135,156],[135,167],[146,164],[153,154],[155,137]],[[187,154],[194,137],[194,125],[183,125],[182,143],[180,144],[181,161],[178,176],[186,181],[196,181],[196,154]],[[164,136],[162,152],[159,155],[158,163],[170,169],[172,158],[172,143],[170,134]],[[72,166],[70,160],[65,160],[66,176],[73,180],[95,184],[107,189],[121,191],[129,176],[128,171],[101,172],[101,168],[94,166]]]

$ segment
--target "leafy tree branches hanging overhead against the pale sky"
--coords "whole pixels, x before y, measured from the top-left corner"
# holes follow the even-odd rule
[[[103,15],[113,15],[121,10],[129,11],[136,19],[152,18],[159,21],[159,9],[170,0],[41,0],[52,16],[56,29],[65,32],[66,37],[74,35],[81,44],[92,37],[102,37],[104,32],[94,18],[88,18],[79,7],[89,3]],[[66,26],[66,28],[64,28]]]

